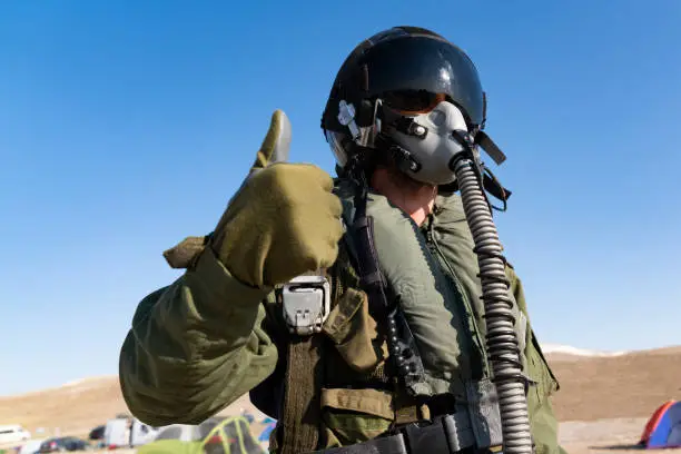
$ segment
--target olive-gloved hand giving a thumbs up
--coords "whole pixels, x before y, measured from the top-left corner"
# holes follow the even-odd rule
[[[288,151],[287,125],[275,111],[249,177],[208,241],[237,279],[255,287],[332,266],[343,235],[332,177],[308,164],[272,162]]]

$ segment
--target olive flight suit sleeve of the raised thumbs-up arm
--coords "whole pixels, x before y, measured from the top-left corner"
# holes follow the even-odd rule
[[[267,378],[277,348],[263,328],[270,290],[247,286],[205,248],[144,298],[120,351],[119,378],[146,424],[198,424]]]

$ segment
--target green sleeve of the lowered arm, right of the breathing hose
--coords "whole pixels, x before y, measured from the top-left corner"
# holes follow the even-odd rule
[[[511,282],[511,292],[515,302],[530,320],[523,285],[512,266],[506,267],[506,277]],[[530,322],[526,333],[526,373],[533,382],[527,389],[527,411],[535,450],[537,454],[566,454],[559,443],[559,422],[551,404],[551,395],[557,392],[560,386],[541,352]]]

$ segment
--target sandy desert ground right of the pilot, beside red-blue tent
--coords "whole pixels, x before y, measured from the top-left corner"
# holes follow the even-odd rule
[[[681,399],[681,347],[546,356],[561,383],[553,405],[569,453],[635,450],[652,412],[665,401]]]

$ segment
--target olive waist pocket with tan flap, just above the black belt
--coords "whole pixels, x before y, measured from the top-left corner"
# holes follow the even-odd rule
[[[322,389],[325,447],[362,443],[387,432],[395,415],[392,398],[378,389]]]

